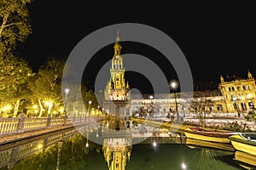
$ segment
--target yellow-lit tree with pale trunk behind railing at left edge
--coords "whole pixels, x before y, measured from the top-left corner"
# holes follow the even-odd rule
[[[25,99],[27,79],[32,76],[32,69],[23,59],[13,55],[0,56],[0,102],[4,105],[15,105],[17,115],[20,100]]]

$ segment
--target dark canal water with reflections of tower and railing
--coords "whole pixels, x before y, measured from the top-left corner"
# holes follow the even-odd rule
[[[98,132],[95,127],[80,127],[77,130],[49,134],[42,138],[1,147],[0,169],[108,170],[122,169],[121,167],[122,170],[255,169],[248,162],[238,161],[234,150],[218,150],[218,146],[210,148],[206,147],[207,144],[202,146],[196,141],[188,144],[186,139],[176,134],[169,137],[154,136],[125,147],[119,145],[120,147],[113,151],[111,150],[113,147],[106,145],[106,142],[102,145],[90,140],[93,136],[102,139],[103,142],[104,137]],[[123,139],[117,141],[121,143]]]

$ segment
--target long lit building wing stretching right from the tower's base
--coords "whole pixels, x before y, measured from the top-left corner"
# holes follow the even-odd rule
[[[150,99],[150,96],[154,96]],[[255,110],[256,86],[255,79],[250,71],[247,78],[220,76],[218,89],[193,92],[193,97],[183,98],[186,94],[177,93],[177,110],[182,114],[195,113],[199,111],[214,113],[233,113],[247,115],[249,111]],[[189,95],[188,95],[189,96]],[[160,116],[168,112],[175,112],[175,99],[173,94],[131,94],[131,112],[147,112],[154,107],[154,112]],[[201,109],[199,108],[201,107]]]

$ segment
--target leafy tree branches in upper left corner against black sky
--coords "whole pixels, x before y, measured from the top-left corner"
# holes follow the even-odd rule
[[[16,42],[25,41],[32,33],[28,3],[32,0],[0,1],[0,55],[12,53]]]

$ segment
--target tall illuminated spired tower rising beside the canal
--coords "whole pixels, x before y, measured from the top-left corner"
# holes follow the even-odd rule
[[[124,118],[131,116],[129,111],[131,93],[128,82],[125,82],[125,67],[121,56],[121,48],[119,32],[117,32],[109,71],[110,79],[104,91],[104,109],[108,116]],[[116,129],[119,129],[119,120],[116,121]]]

